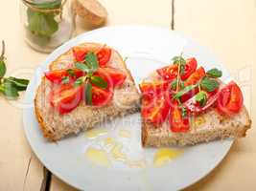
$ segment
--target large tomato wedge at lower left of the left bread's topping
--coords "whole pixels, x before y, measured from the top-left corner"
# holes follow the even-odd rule
[[[49,100],[51,105],[58,110],[59,114],[66,114],[78,107],[82,96],[83,91],[81,86],[74,87],[71,84],[64,84],[52,90]]]

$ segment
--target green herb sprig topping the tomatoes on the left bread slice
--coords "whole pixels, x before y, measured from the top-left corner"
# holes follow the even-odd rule
[[[92,104],[92,85],[95,85],[99,88],[106,89],[107,88],[107,82],[104,78],[98,75],[94,75],[94,73],[99,69],[99,62],[97,59],[97,55],[95,53],[87,53],[84,60],[82,62],[75,63],[75,67],[78,70],[81,70],[84,72],[84,75],[79,77],[75,83],[74,86],[78,87],[83,85],[84,91],[85,91],[85,100],[88,105]],[[74,71],[72,69],[69,69],[68,72],[70,75],[74,74]],[[68,83],[68,78],[63,78],[62,83]]]

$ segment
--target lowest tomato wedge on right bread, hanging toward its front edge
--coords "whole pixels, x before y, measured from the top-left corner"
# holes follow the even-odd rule
[[[169,123],[172,132],[181,133],[189,130],[189,117],[182,117],[181,109],[176,101],[171,107]]]

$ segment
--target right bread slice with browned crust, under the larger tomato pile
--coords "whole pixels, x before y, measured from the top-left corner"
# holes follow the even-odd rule
[[[146,80],[156,80],[151,74]],[[246,108],[234,117],[223,117],[212,108],[197,117],[191,118],[190,130],[186,133],[173,133],[168,122],[155,127],[142,119],[142,144],[145,147],[184,146],[223,138],[242,138],[250,128],[251,120]]]

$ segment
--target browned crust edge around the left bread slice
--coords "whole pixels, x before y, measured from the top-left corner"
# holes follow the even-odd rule
[[[98,43],[82,43],[80,45],[78,45],[77,47],[88,47],[88,48],[101,48],[103,47],[102,44],[98,44]],[[50,65],[49,65],[49,69],[50,70],[54,70],[56,69],[56,66],[58,64],[58,60],[60,59],[61,60],[61,57],[62,56],[65,56],[65,55],[68,55],[70,54],[70,51],[67,51],[66,53],[62,53],[61,55],[58,56],[58,58],[56,60],[54,60]],[[115,51],[115,53],[117,53]],[[121,55],[119,53],[117,53],[118,56],[120,56],[120,60],[122,59]],[[132,77],[132,75],[130,74],[128,68],[127,68],[127,65],[126,63],[123,61],[122,59],[122,65],[124,67],[124,69],[126,70],[126,73],[128,74],[128,78],[131,80],[132,82],[132,85],[135,86],[135,82],[134,82],[134,79]],[[65,67],[64,67],[65,68]],[[38,121],[38,124],[39,124],[39,127],[42,131],[42,134],[45,138],[48,138],[50,141],[57,141],[59,138],[56,137],[56,134],[55,134],[55,129],[51,128],[49,125],[46,124],[45,120],[44,120],[44,117],[40,111],[40,109],[38,108],[38,105],[37,105],[37,101],[39,101],[37,98],[37,96],[39,95],[39,91],[41,91],[42,89],[42,86],[44,85],[45,83],[45,77],[42,77],[42,80],[41,80],[41,84],[39,85],[39,87],[37,87],[37,90],[36,90],[36,94],[35,94],[35,99],[34,99],[34,102],[35,102],[35,117]],[[138,90],[135,88],[135,93],[137,95],[139,95],[138,93]],[[124,116],[124,115],[128,115],[128,114],[132,114],[132,113],[136,113],[139,111],[139,108],[138,107],[133,107],[133,108],[130,108],[130,109],[127,109],[123,112],[119,112],[117,115],[115,116],[112,116],[112,117],[117,117],[117,116]],[[91,127],[88,127],[88,129],[91,128]]]

